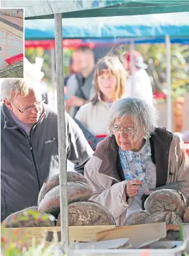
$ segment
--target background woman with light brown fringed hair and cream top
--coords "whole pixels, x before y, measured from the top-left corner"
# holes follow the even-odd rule
[[[110,106],[125,96],[126,71],[119,58],[117,56],[101,58],[96,64],[94,80],[95,96],[75,115],[75,121],[80,122],[78,124],[93,149],[107,134]],[[91,142],[94,142],[94,145]]]

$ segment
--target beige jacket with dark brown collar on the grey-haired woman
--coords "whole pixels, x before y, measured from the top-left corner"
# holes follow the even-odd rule
[[[189,194],[189,158],[180,137],[163,128],[157,128],[150,137],[152,161],[156,165],[156,187],[174,183],[185,198]],[[93,189],[93,201],[106,207],[123,225],[126,209],[132,198],[126,200],[123,170],[120,168],[115,137],[100,142],[85,165],[84,175]]]

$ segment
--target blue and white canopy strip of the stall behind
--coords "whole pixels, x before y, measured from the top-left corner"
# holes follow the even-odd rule
[[[64,39],[154,38],[166,35],[189,38],[188,31],[189,12],[63,20]],[[25,40],[54,38],[55,26],[52,19],[25,21]]]

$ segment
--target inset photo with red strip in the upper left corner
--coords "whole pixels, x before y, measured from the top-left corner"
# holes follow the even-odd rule
[[[24,9],[0,8],[0,78],[23,78]]]

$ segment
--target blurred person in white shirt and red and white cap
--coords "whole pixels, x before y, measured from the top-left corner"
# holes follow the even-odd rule
[[[144,63],[142,54],[133,51],[133,66],[131,63],[131,52],[126,52],[123,66],[126,71],[131,72],[126,83],[127,97],[137,97],[153,104],[152,84],[149,75],[145,71],[148,66]]]

